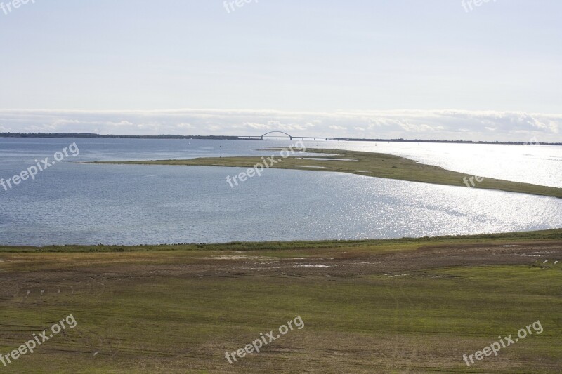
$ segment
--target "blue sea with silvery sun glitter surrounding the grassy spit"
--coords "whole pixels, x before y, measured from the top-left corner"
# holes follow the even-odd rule
[[[70,143],[80,154],[0,187],[0,243],[139,244],[370,239],[562,227],[562,199],[322,171],[268,170],[234,189],[236,168],[74,161],[271,154],[289,140],[0,138],[0,178]],[[306,142],[406,156],[468,175],[562,187],[562,147]],[[73,161],[73,162],[70,162]]]

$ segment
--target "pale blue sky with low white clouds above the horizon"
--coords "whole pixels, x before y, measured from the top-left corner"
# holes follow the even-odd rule
[[[0,3],[0,132],[562,141],[559,0]]]

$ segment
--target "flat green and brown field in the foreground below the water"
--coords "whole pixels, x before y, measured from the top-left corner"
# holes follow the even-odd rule
[[[558,261],[558,262],[556,262]],[[0,248],[1,373],[559,373],[562,229],[384,241]],[[556,262],[556,263],[555,263]],[[304,328],[230,364],[301,316]],[[542,333],[466,366],[540,321]]]

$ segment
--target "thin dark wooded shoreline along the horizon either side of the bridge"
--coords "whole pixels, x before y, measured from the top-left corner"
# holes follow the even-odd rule
[[[0,133],[0,138],[48,138],[48,139],[185,139],[185,140],[261,140],[259,138],[244,138],[234,135],[102,135],[94,133]],[[307,137],[305,137],[307,138]],[[325,138],[319,140],[338,142],[415,142],[415,143],[452,143],[452,144],[492,144],[492,145],[526,145],[528,142],[489,142],[483,140],[426,140],[426,139],[373,139],[373,138]],[[288,138],[287,138],[288,139]],[[294,136],[293,139],[301,139]],[[266,140],[266,139],[264,139]],[[533,145],[562,145],[562,143],[533,143]]]

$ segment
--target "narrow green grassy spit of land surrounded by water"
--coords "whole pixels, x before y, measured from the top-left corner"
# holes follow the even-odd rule
[[[438,166],[425,165],[410,159],[391,154],[346,151],[340,149],[306,149],[308,153],[326,154],[320,156],[288,156],[283,159],[277,154],[278,162],[271,168],[296,169],[308,171],[333,171],[352,173],[370,177],[408,180],[411,182],[433,183],[436,185],[462,186],[466,188],[467,178],[473,177],[449,171]],[[345,161],[342,161],[345,160]],[[268,161],[269,162],[269,161]],[[155,161],[100,161],[96,163],[118,163],[136,165],[176,165],[176,166],[228,166],[251,168],[258,163],[263,164],[259,156],[240,157],[207,157],[187,160],[155,160]],[[484,178],[478,182],[475,178],[468,184],[473,188],[498,189],[506,192],[520,192],[542,196],[562,198],[562,188],[532,185],[530,183],[511,182],[495,178]],[[472,186],[473,185],[473,186]]]

